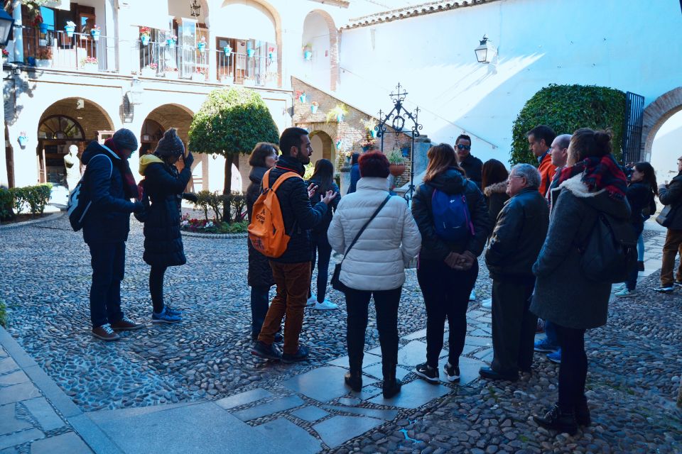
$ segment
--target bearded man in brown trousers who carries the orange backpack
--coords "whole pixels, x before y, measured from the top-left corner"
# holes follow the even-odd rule
[[[313,154],[308,131],[302,128],[285,129],[279,139],[279,148],[282,155],[267,176],[269,187],[287,172],[296,172],[303,177],[303,166],[310,162],[310,155]],[[306,187],[303,178],[296,177],[287,179],[276,190],[284,228],[291,239],[281,257],[270,259],[277,294],[265,316],[258,341],[251,350],[251,353],[261,358],[281,359],[284,362],[308,358],[308,348],[298,345],[298,336],[301,334],[303,309],[310,287],[310,257],[313,255],[310,229],[323,220],[327,205],[336,196],[329,191],[322,198],[323,203],[313,207],[310,205],[309,189],[313,188]],[[280,355],[272,344],[285,314],[284,348]]]

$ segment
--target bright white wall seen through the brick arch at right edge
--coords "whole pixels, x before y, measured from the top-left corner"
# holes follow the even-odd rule
[[[682,157],[682,111],[663,123],[651,145],[651,165],[656,169],[659,184],[677,175],[679,157]]]

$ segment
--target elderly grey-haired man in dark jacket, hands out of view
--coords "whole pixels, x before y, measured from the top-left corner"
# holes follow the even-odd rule
[[[535,287],[533,264],[549,225],[547,201],[538,192],[541,177],[529,164],[512,167],[505,202],[492,232],[485,262],[492,277],[492,348],[489,380],[519,379],[530,372],[537,317],[529,311]]]

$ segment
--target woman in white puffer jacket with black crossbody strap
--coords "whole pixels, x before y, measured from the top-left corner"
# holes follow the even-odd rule
[[[359,159],[357,192],[339,202],[327,237],[332,248],[345,253],[375,211],[389,197],[389,161],[380,152]],[[421,234],[404,199],[391,196],[372,219],[343,260],[340,281],[348,287],[347,349],[350,372],[345,382],[362,388],[364,332],[369,299],[374,296],[384,372],[383,391],[388,399],[400,391],[398,363],[398,306],[405,282],[405,267],[419,253]]]

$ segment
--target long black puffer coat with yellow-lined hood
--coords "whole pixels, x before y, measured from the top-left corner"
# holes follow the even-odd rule
[[[165,162],[152,162],[144,170],[144,191],[149,207],[144,221],[144,255],[148,265],[170,267],[185,265],[180,233],[180,198],[192,177],[185,167],[180,174]]]

